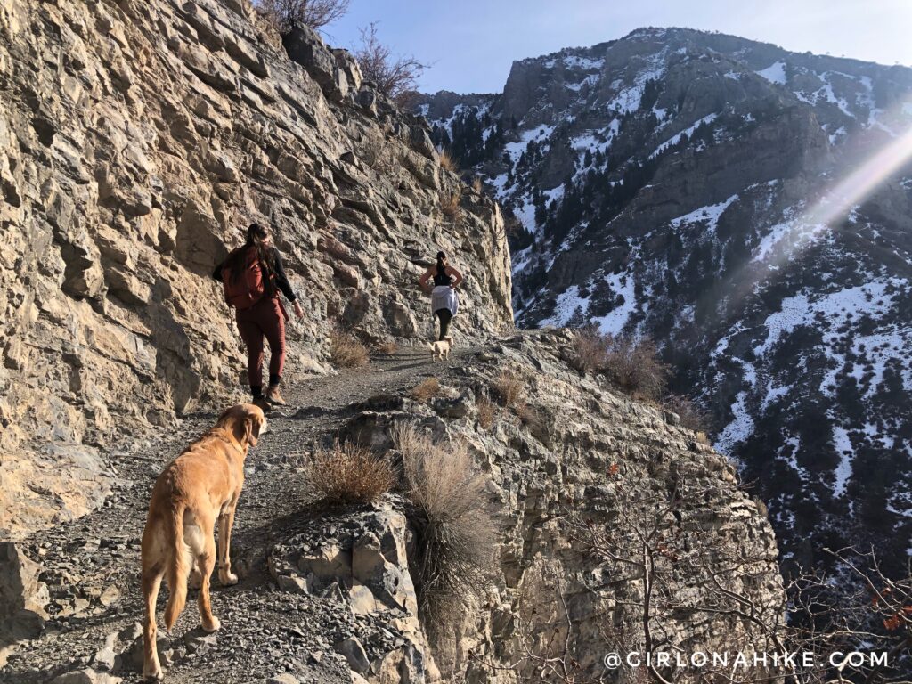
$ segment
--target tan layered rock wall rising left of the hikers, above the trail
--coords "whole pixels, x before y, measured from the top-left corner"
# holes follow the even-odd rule
[[[330,369],[332,326],[428,334],[415,279],[438,249],[467,275],[458,334],[513,326],[497,205],[347,53],[286,47],[300,63],[246,0],[0,7],[4,534],[96,505],[119,429],[243,396],[209,274],[251,221],[306,311],[291,378]]]

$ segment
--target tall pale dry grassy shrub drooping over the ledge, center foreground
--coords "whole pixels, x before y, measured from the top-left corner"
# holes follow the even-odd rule
[[[419,616],[434,643],[452,634],[492,573],[497,530],[486,478],[462,441],[393,430],[416,529]]]

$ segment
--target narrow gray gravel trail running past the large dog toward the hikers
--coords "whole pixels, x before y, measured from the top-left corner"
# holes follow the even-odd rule
[[[287,681],[351,681],[345,658],[323,636],[328,622],[346,616],[306,594],[279,591],[266,566],[268,549],[276,534],[308,524],[317,513],[316,496],[303,472],[316,445],[331,442],[371,397],[406,392],[424,378],[442,380],[472,353],[455,349],[450,361],[433,363],[427,350],[404,347],[375,355],[367,367],[308,378],[284,389],[288,406],[269,414],[268,431],[246,461],[232,538],[233,566],[241,581],[223,587],[212,580],[213,612],[222,629],[202,632],[191,590],[177,626],[166,633],[161,611],[167,592],[162,588],[159,648],[166,681],[268,681],[291,670],[296,679]],[[0,682],[51,681],[82,668],[97,671],[98,682],[111,681],[104,679],[104,671],[124,682],[141,681],[140,537],[149,494],[164,465],[211,426],[216,415],[193,415],[176,430],[162,428],[128,449],[110,451],[117,482],[103,507],[22,544],[44,566],[41,580],[50,593],[50,619],[41,637],[17,648],[0,670]],[[96,681],[73,679],[90,680]]]

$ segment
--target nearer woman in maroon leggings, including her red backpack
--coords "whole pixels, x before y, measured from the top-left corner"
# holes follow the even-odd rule
[[[279,393],[285,365],[285,307],[278,289],[295,305],[295,316],[304,316],[301,304],[285,276],[282,256],[259,223],[247,228],[247,241],[215,267],[212,277],[222,281],[225,299],[236,309],[237,329],[247,346],[247,378],[254,404],[285,404]],[[269,388],[263,395],[263,338],[269,342]]]

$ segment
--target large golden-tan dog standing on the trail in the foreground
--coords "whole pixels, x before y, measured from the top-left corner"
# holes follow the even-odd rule
[[[171,596],[165,607],[165,627],[171,629],[187,600],[187,575],[200,586],[202,628],[221,627],[212,615],[209,579],[215,565],[212,528],[219,523],[219,581],[237,584],[231,572],[231,530],[234,508],[244,486],[247,450],[266,430],[263,410],[253,404],[227,409],[215,427],[196,440],[159,475],[152,489],[149,516],[142,533],[142,596],[146,602],[142,674],[161,679],[155,648],[155,601],[161,578],[167,575]]]

